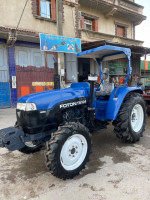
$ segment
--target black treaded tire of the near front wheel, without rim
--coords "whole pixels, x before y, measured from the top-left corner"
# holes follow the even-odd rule
[[[77,166],[77,168],[73,170],[67,170],[62,164],[63,159],[61,157],[61,152],[68,138],[70,140],[71,138],[75,137],[75,134],[78,134],[81,137],[83,136],[85,138],[87,150],[85,152],[86,153],[85,157],[83,157],[84,160],[80,164],[80,166]],[[83,143],[81,146],[83,146]],[[58,128],[58,131],[52,134],[50,141],[47,142],[46,144],[45,157],[46,157],[46,164],[47,164],[48,169],[51,171],[52,175],[58,178],[61,178],[64,180],[73,178],[74,176],[78,175],[82,169],[85,168],[86,163],[89,161],[91,146],[92,146],[91,135],[88,129],[84,125],[80,123],[70,122],[70,123],[66,123],[64,126],[60,126]],[[74,149],[75,148],[77,147],[74,147]],[[73,156],[76,152],[72,154],[72,150],[65,151],[65,153],[68,153],[70,151],[71,153],[69,156]]]

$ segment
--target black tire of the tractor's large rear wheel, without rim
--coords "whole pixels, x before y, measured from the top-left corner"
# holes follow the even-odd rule
[[[141,124],[140,130],[135,131],[132,128],[131,120],[134,120],[132,110],[135,105],[140,105],[143,110],[143,123]],[[132,116],[131,116],[132,115]],[[119,110],[117,119],[113,122],[114,132],[117,138],[120,138],[122,142],[135,143],[140,140],[143,136],[146,123],[146,108],[143,97],[138,93],[129,93]]]

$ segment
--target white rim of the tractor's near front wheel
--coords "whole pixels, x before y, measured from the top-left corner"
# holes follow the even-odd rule
[[[87,141],[83,135],[75,134],[69,137],[60,153],[60,161],[65,170],[77,169],[87,155]]]

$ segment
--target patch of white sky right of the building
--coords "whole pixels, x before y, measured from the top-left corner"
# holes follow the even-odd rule
[[[150,48],[150,0],[135,0],[135,3],[144,6],[143,15],[147,19],[136,26],[136,40],[144,41],[144,46]]]

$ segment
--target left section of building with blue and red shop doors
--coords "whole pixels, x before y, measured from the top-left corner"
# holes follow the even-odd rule
[[[63,35],[76,37],[78,4],[63,1],[61,13],[57,13],[56,0],[28,0],[26,7],[25,3],[26,0],[8,0],[0,6],[0,107],[15,106],[21,96],[53,89],[55,62],[59,73],[64,61],[71,69],[77,69],[72,55],[41,52],[39,33],[58,35],[58,15],[62,14]],[[77,70],[73,73],[77,74]]]

